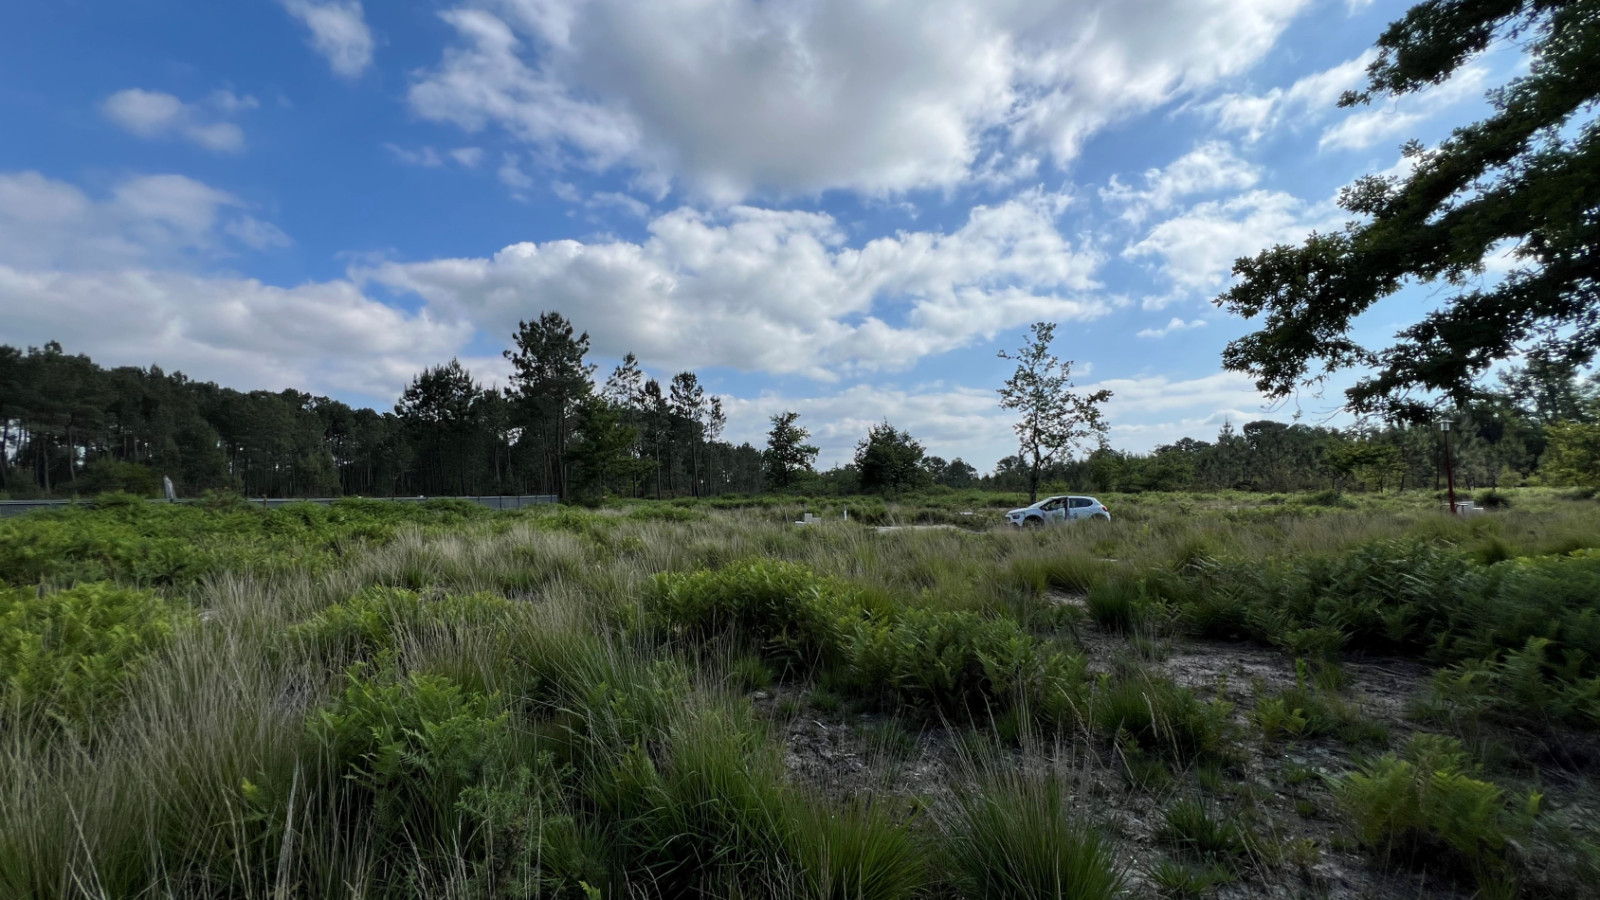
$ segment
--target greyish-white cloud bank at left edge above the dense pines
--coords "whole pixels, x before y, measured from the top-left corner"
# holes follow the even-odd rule
[[[283,288],[187,271],[237,245],[286,242],[230,194],[179,175],[130,178],[96,199],[3,173],[0,343],[61,341],[106,365],[384,402],[470,340],[467,322],[403,312],[347,280]]]

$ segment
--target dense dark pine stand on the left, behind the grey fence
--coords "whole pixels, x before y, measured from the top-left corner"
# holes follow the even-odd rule
[[[704,496],[762,488],[762,452],[693,372],[666,386],[629,356],[605,384],[589,335],[520,322],[507,388],[459,360],[418,373],[389,412],[302,391],[235,391],[160,367],[104,368],[61,344],[0,346],[0,495]]]

